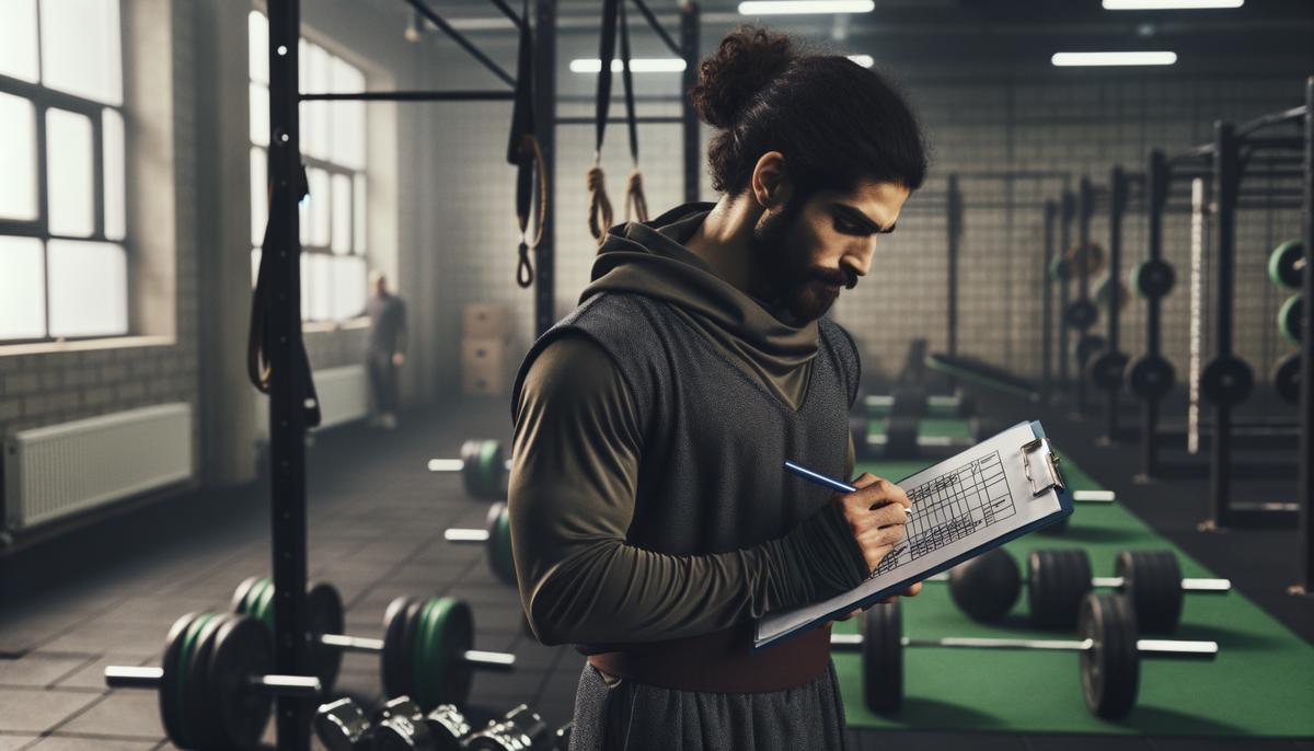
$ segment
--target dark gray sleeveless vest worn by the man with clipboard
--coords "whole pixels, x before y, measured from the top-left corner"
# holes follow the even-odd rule
[[[585,336],[615,361],[639,408],[643,449],[627,542],[673,555],[752,547],[786,534],[830,491],[786,474],[784,460],[830,477],[845,471],[848,412],[859,362],[849,335],[819,320],[819,352],[798,411],[732,364],[671,303],[598,294],[544,333],[544,347]],[[512,407],[514,410],[515,407]]]

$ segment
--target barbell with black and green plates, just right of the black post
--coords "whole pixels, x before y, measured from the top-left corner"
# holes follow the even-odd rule
[[[273,633],[273,582],[252,576],[238,584],[233,609],[263,622]],[[323,685],[338,677],[342,653],[381,656],[388,696],[413,696],[426,709],[464,704],[473,670],[510,671],[515,655],[478,651],[470,607],[452,597],[397,597],[384,613],[382,639],[343,635],[342,596],[332,584],[318,583],[306,593],[306,622],[311,664]]]

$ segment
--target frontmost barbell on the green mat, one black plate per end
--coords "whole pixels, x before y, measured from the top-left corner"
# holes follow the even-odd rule
[[[903,704],[903,650],[907,647],[1077,653],[1085,706],[1104,718],[1125,717],[1135,706],[1141,658],[1212,660],[1218,655],[1217,642],[1138,638],[1137,618],[1126,599],[1093,592],[1080,603],[1077,638],[1070,641],[912,639],[903,635],[897,601],[869,608],[861,629],[861,634],[832,634],[830,646],[836,651],[861,650],[863,702],[878,714],[895,713]]]

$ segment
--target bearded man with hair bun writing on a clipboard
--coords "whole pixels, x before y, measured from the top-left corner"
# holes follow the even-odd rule
[[[577,750],[845,748],[829,626],[750,653],[763,613],[859,584],[905,494],[849,475],[853,340],[823,315],[925,179],[875,72],[741,29],[691,92],[723,194],[614,227],[512,393],[512,546],[544,643],[589,655]],[[909,593],[916,593],[915,587]]]

